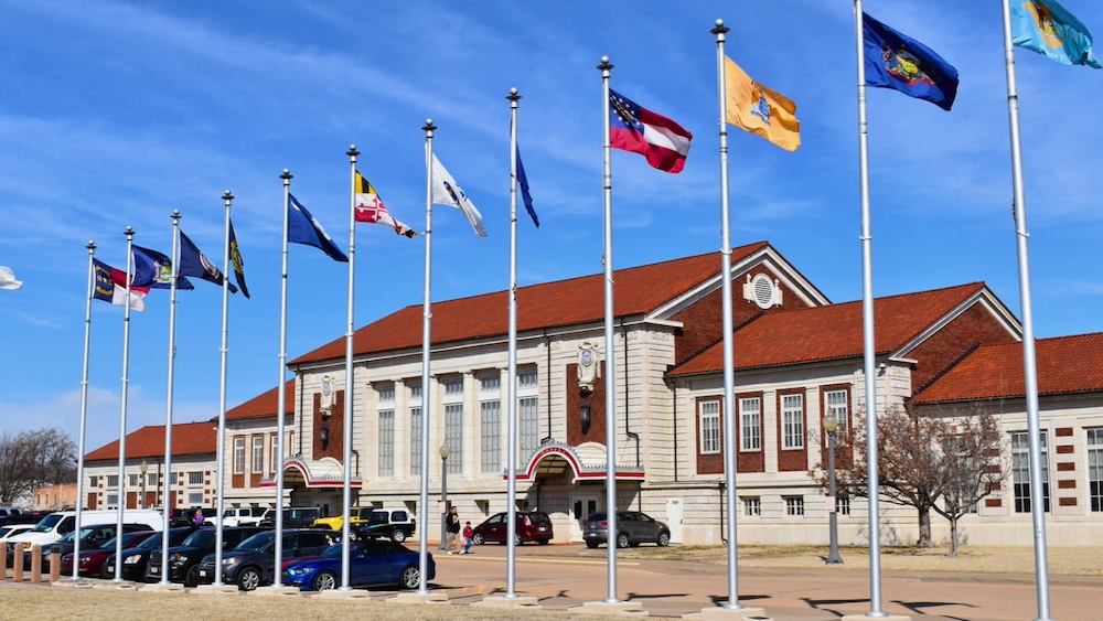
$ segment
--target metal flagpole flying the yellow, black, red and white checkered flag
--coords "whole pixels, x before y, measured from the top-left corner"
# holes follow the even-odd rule
[[[345,401],[344,401],[344,485],[342,486],[344,512],[342,513],[341,526],[341,588],[342,591],[351,591],[349,585],[351,575],[352,557],[350,556],[349,534],[351,526],[350,505],[352,504],[352,408],[353,408],[353,368],[352,368],[352,336],[355,325],[353,324],[353,286],[356,281],[356,156],[360,151],[355,144],[349,146],[349,174],[350,189],[349,196],[349,322],[345,326]],[[425,524],[422,522],[422,524]]]

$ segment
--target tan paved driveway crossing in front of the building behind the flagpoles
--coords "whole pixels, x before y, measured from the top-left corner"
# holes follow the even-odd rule
[[[579,550],[580,546],[576,546]],[[567,609],[609,595],[608,564],[572,556],[571,545],[517,548],[515,590],[550,609]],[[539,556],[526,553],[540,549]],[[505,591],[506,547],[483,545],[467,556],[436,556],[433,590],[456,603],[471,603]],[[728,601],[724,565],[618,559],[615,596],[643,604],[652,617],[681,617]],[[739,603],[763,608],[775,621],[821,621],[869,611],[869,575],[863,569],[740,568]],[[1037,617],[1034,576],[885,572],[881,608],[915,620],[1006,621]],[[1050,608],[1056,619],[1100,619],[1103,578],[1054,577]]]

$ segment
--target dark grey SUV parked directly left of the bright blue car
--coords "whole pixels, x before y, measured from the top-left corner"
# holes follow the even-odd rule
[[[336,543],[338,534],[319,528],[283,531],[281,556],[283,560],[302,560],[317,557]],[[276,532],[257,533],[242,542],[236,548],[222,555],[222,580],[237,585],[243,591],[251,591],[261,585],[270,585],[276,559]],[[213,582],[215,578],[214,555],[208,554],[200,563],[200,582]]]

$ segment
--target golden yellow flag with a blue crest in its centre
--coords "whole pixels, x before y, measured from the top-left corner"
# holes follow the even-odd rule
[[[729,124],[765,138],[786,151],[801,146],[801,121],[792,99],[754,82],[731,58],[724,57]]]

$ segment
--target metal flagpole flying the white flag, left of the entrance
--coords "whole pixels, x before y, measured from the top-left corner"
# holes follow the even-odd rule
[[[421,536],[418,537],[418,593],[428,593],[429,571],[429,415],[432,394],[429,390],[429,335],[432,324],[430,283],[432,276],[432,132],[437,126],[425,119],[425,297],[421,310],[421,499],[418,503]],[[447,468],[442,464],[441,468]],[[445,507],[447,510],[447,507]],[[443,542],[441,542],[443,543]]]

